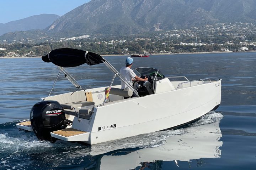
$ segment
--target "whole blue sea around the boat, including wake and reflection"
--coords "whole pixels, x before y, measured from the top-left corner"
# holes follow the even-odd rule
[[[126,57],[105,59],[119,70]],[[33,104],[48,96],[59,70],[41,58],[0,58],[0,170],[256,169],[255,52],[134,58],[133,68],[143,66],[189,80],[222,78],[220,107],[187,127],[92,146],[38,141],[15,124],[29,119]],[[86,89],[107,86],[113,77],[104,64],[67,70]],[[52,95],[75,90],[61,75]]]

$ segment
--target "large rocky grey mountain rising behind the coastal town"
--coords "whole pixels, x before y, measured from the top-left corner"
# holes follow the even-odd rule
[[[256,23],[256,1],[91,0],[52,21],[41,32],[37,31],[37,37],[44,34],[66,37],[82,34],[130,35],[224,22]],[[16,32],[0,36],[0,40],[22,35],[26,38],[24,32]]]

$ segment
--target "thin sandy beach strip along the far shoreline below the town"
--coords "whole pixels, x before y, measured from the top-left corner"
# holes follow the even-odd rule
[[[235,53],[237,52],[256,52],[256,51],[236,51]],[[154,53],[154,54],[150,54],[152,56],[154,55],[180,55],[180,54],[211,54],[211,53],[233,53],[233,51],[219,51],[219,52],[185,52],[185,53]],[[101,55],[102,57],[108,57],[108,56],[130,56],[130,55]],[[27,57],[27,56],[24,56],[24,57],[14,57],[14,56],[4,56],[4,57],[0,57],[0,58],[39,58],[39,57],[42,57],[42,56],[33,56],[33,57]]]

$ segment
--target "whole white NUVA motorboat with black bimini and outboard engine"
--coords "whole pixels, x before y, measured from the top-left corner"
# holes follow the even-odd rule
[[[78,90],[55,96],[49,94],[32,107],[30,121],[16,124],[17,128],[34,131],[39,140],[58,138],[92,145],[177,128],[215,110],[220,104],[221,79],[189,81],[186,77],[165,77],[159,69],[140,67],[135,70],[141,77],[147,76],[148,81],[130,85],[96,53],[56,49],[42,60],[55,64],[60,69],[59,74],[63,72]],[[84,63],[89,66],[104,63],[114,73],[111,83],[82,89],[65,67]],[[121,89],[121,85],[112,86],[116,77],[124,81],[129,90]],[[176,78],[184,80],[172,81]],[[131,98],[133,93],[137,97]]]

